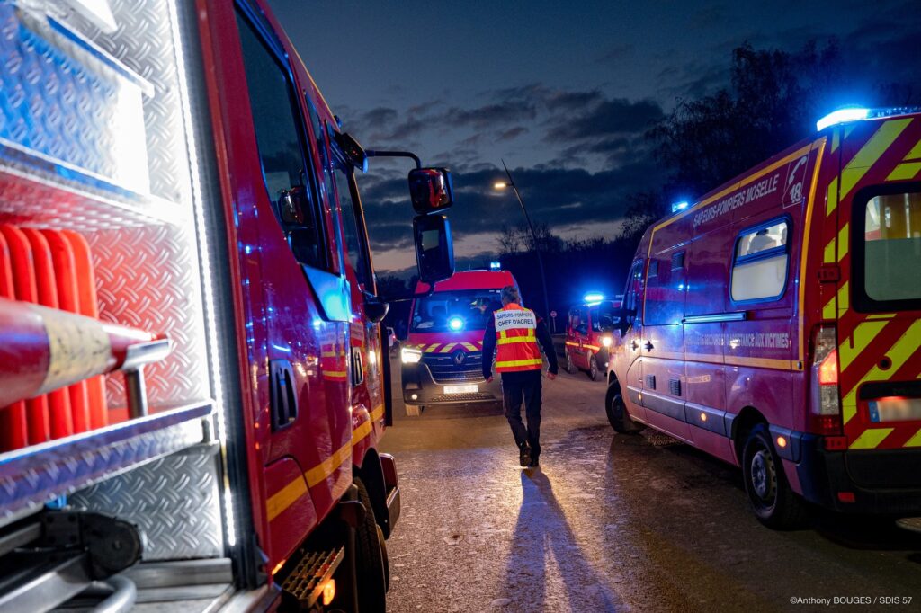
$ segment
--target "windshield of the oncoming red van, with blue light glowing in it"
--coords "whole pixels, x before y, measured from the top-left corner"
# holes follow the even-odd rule
[[[485,330],[493,311],[502,308],[497,289],[437,292],[415,301],[410,330],[456,332]]]

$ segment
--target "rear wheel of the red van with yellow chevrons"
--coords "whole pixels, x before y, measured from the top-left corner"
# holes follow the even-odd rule
[[[742,474],[745,492],[748,492],[758,521],[777,529],[802,525],[806,519],[806,506],[790,488],[764,423],[755,425],[745,441]]]

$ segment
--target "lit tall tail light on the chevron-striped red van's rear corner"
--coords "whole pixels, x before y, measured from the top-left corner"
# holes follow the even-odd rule
[[[834,326],[820,326],[812,342],[810,413],[819,434],[841,434],[836,337]]]

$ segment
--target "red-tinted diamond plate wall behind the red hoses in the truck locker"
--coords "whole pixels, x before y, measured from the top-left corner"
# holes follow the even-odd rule
[[[152,406],[210,396],[203,307],[192,235],[144,226],[87,235],[96,266],[99,318],[169,333],[175,349],[145,367]],[[108,377],[111,407],[126,405],[124,379]]]

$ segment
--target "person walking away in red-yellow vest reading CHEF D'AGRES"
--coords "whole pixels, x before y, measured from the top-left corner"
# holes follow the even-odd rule
[[[483,376],[493,380],[495,371],[502,376],[502,403],[515,444],[519,447],[522,467],[538,466],[541,456],[541,348],[550,367],[547,378],[556,378],[556,352],[542,319],[534,311],[521,307],[518,288],[502,288],[502,308],[493,313],[483,337]],[[527,427],[521,421],[524,401]]]

